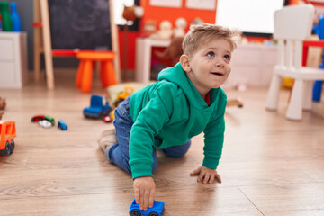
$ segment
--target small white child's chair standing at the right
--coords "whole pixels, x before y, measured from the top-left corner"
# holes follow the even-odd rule
[[[266,99],[266,109],[278,107],[280,86],[284,77],[294,79],[286,118],[302,120],[302,109],[311,109],[311,91],[314,80],[324,80],[324,70],[302,67],[302,42],[311,36],[314,17],[311,4],[285,6],[275,12],[275,34],[278,40],[278,64]]]

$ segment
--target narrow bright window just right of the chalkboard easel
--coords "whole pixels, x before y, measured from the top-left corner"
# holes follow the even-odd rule
[[[124,5],[132,6],[139,5],[139,0],[113,0],[113,19],[114,22],[122,29],[126,24],[126,20],[122,18],[122,12]],[[130,31],[138,31],[139,30],[139,21],[129,22]]]

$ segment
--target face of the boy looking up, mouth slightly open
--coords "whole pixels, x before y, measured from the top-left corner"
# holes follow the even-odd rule
[[[218,88],[230,74],[231,46],[228,40],[217,39],[203,44],[189,57],[187,76],[200,94]],[[184,69],[185,70],[185,69]]]

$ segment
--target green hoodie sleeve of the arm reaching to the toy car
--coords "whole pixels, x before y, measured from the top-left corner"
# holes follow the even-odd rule
[[[133,179],[152,175],[154,137],[169,121],[173,96],[169,89],[157,89],[139,112],[130,130],[130,169]]]

